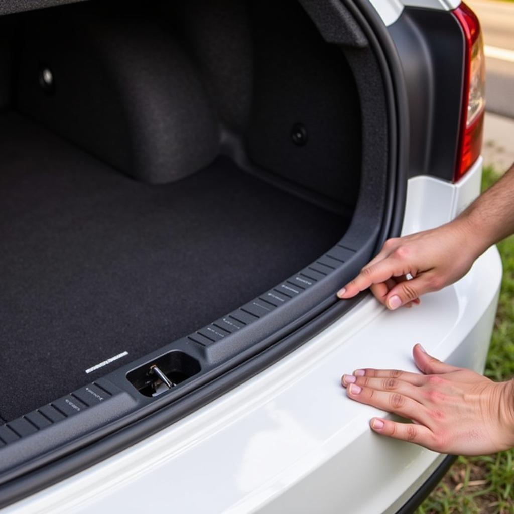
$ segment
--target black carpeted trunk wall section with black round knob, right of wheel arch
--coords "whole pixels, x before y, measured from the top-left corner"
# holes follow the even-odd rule
[[[360,105],[341,49],[323,41],[295,2],[263,0],[252,7],[255,82],[249,158],[355,207]],[[305,127],[304,146],[291,144],[296,124]]]

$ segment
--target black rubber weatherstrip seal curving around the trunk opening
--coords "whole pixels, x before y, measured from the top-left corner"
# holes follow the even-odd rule
[[[359,3],[359,8],[356,3]],[[384,210],[382,228],[377,242],[379,248],[387,237],[396,236],[401,228],[405,196],[407,187],[407,155],[408,155],[408,118],[405,88],[402,84],[401,65],[387,31],[373,7],[366,0],[343,0],[342,2],[355,16],[369,38],[382,72],[384,85],[386,86],[386,101],[390,109],[389,119],[389,173],[386,208]],[[372,28],[373,26],[373,28]],[[388,53],[386,57],[383,53]],[[394,108],[392,107],[394,106]],[[398,123],[398,124],[397,124]],[[401,135],[401,137],[399,137]],[[0,508],[15,501],[21,500],[29,494],[40,491],[52,484],[64,480],[77,472],[80,472],[108,456],[130,447],[149,435],[169,426],[178,419],[194,412],[213,399],[233,389],[249,378],[260,373],[263,369],[279,361],[281,358],[301,346],[308,339],[320,333],[329,324],[345,314],[366,296],[362,293],[358,297],[347,301],[338,301],[333,297],[319,305],[314,319],[304,317],[304,325],[284,338],[273,343],[258,355],[254,355],[247,362],[237,365],[227,371],[215,381],[205,384],[188,394],[188,398],[182,401],[170,403],[151,415],[132,421],[131,425],[121,427],[116,431],[113,425],[109,425],[102,435],[101,430],[95,432],[94,438],[87,444],[86,438],[82,439],[82,446],[70,444],[67,453],[52,452],[51,457],[56,459],[46,465],[41,462],[40,467],[27,466],[26,474],[21,475],[17,469],[18,478],[7,481],[0,486]],[[317,314],[311,313],[311,316]],[[127,419],[124,420],[127,423]],[[121,425],[121,424],[120,424]],[[100,440],[97,440],[101,437]],[[47,456],[48,457],[48,456]],[[34,463],[32,463],[34,464]],[[20,476],[21,475],[21,476]]]

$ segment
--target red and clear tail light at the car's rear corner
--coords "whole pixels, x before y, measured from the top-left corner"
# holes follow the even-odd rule
[[[461,3],[454,11],[466,39],[462,115],[454,181],[460,179],[479,157],[485,108],[485,57],[480,22]]]

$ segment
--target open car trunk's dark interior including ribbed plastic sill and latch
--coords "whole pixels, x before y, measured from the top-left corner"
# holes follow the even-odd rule
[[[378,58],[342,4],[91,1],[0,25],[12,471],[333,305],[387,230],[393,179]]]

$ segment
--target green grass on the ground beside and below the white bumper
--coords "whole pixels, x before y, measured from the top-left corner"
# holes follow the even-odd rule
[[[499,175],[484,169],[482,189]],[[514,376],[514,236],[498,245],[503,280],[485,374],[492,380]],[[419,507],[417,514],[514,514],[514,449],[483,457],[458,457]]]

